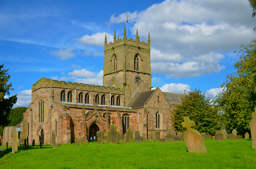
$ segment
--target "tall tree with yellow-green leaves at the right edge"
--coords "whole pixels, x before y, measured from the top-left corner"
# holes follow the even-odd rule
[[[236,72],[228,75],[217,96],[216,106],[224,113],[226,130],[238,134],[250,132],[249,122],[256,106],[256,39],[241,45],[239,61],[234,64]]]

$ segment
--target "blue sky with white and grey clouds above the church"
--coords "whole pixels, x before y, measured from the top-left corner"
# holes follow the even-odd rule
[[[0,64],[9,69],[14,107],[28,106],[42,77],[102,85],[104,38],[151,40],[152,86],[214,98],[234,72],[240,44],[255,37],[247,0],[0,1]]]

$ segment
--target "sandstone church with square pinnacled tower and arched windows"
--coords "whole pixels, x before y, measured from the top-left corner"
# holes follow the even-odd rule
[[[56,142],[97,141],[96,132],[104,134],[115,124],[120,134],[130,127],[149,138],[159,130],[166,136],[172,127],[172,114],[184,94],[151,90],[150,34],[148,42],[116,38],[104,45],[103,86],[42,78],[32,85],[32,102],[24,113],[20,139],[28,136],[39,144],[50,143],[52,130]]]

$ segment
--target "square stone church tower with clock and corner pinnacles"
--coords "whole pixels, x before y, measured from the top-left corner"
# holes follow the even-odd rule
[[[124,88],[125,105],[136,92],[151,90],[149,33],[148,43],[140,41],[138,30],[134,40],[126,37],[124,26],[123,39],[116,39],[115,31],[114,41],[107,43],[105,35],[104,52],[103,85]]]

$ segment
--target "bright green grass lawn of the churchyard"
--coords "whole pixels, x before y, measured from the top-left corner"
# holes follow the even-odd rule
[[[39,145],[8,155],[0,152],[1,169],[73,169],[73,168],[136,168],[136,169],[250,169],[256,167],[256,150],[250,139],[204,140],[207,153],[188,153],[185,142],[112,145],[84,143],[83,146],[62,144],[52,149]],[[5,146],[0,146],[5,148]]]

